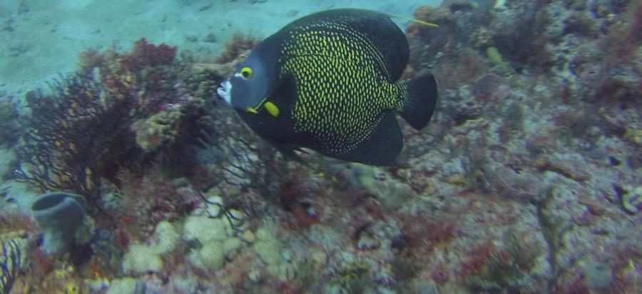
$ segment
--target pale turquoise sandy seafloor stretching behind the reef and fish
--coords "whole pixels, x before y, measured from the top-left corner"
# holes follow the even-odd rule
[[[32,90],[58,77],[58,73],[76,69],[78,54],[83,50],[106,46],[128,49],[141,37],[154,44],[165,42],[180,49],[216,54],[236,32],[269,36],[290,21],[315,11],[352,7],[412,16],[420,4],[439,3],[439,0],[1,1],[0,91]]]

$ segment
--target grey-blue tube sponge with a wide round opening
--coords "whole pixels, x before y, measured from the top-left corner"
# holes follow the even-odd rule
[[[62,253],[73,244],[85,219],[84,207],[84,198],[63,192],[46,193],[34,202],[31,213],[44,235],[45,252]]]

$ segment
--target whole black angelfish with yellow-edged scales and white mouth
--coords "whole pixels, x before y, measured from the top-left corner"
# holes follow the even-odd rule
[[[394,113],[424,128],[437,102],[432,74],[395,83],[408,62],[386,14],[334,9],[297,19],[263,40],[218,95],[284,155],[392,165],[403,147]]]

